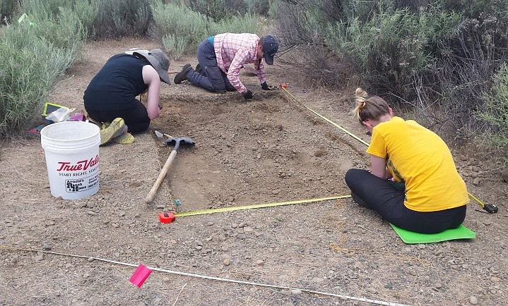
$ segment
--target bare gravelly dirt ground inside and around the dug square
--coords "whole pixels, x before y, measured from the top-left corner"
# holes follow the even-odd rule
[[[158,46],[88,44],[51,102],[83,109],[93,75],[131,47]],[[187,61],[197,63],[172,61],[171,70]],[[485,214],[471,201],[464,225],[473,240],[406,245],[350,198],[160,223],[175,200],[187,212],[349,195],[345,171],[368,168],[366,147],[305,106],[368,142],[348,113],[353,90],[316,89],[280,63],[267,75],[269,84],[287,83],[297,102],[283,90],[262,92],[246,73],[250,102],[236,92],[163,85],[162,116],[134,144],[100,148],[100,190],[82,200],[52,197],[39,137],[3,142],[0,305],[506,305],[508,185],[495,159],[471,149],[452,150],[468,191],[499,206]],[[179,149],[145,204],[172,150],[154,130],[196,146]],[[129,278],[139,263],[165,271],[138,288]]]

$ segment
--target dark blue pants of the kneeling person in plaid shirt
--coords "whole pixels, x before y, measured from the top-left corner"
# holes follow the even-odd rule
[[[202,87],[211,92],[225,92],[236,90],[228,80],[228,75],[223,73],[217,66],[217,58],[215,56],[215,49],[213,42],[209,39],[203,40],[198,47],[198,62],[203,70],[202,74],[196,73],[191,70],[187,79],[199,87]]]

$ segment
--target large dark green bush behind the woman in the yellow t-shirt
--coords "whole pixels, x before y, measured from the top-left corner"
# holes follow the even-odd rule
[[[474,115],[508,61],[507,11],[497,0],[278,0],[270,8],[280,50],[295,53],[309,80],[356,80],[461,140],[489,128]]]

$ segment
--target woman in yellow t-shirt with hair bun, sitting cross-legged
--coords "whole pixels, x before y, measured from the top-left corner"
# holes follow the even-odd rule
[[[361,88],[355,100],[353,112],[372,141],[371,171],[345,174],[353,200],[408,231],[439,233],[461,225],[469,202],[466,184],[441,137],[394,116],[384,99]]]

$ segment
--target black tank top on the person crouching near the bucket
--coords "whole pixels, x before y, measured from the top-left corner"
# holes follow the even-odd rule
[[[134,104],[136,96],[148,87],[143,81],[145,65],[150,63],[130,54],[112,56],[86,88],[85,107],[123,109]]]

